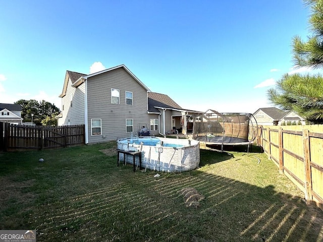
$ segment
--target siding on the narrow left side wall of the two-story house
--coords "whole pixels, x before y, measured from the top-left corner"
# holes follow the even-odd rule
[[[66,95],[62,98],[62,114],[63,117],[59,118],[59,126],[68,125],[82,125],[85,123],[84,114],[84,96],[85,84],[81,84],[77,88],[72,87],[71,79],[67,84]],[[72,97],[72,107],[71,107]],[[63,110],[64,105],[64,110]]]

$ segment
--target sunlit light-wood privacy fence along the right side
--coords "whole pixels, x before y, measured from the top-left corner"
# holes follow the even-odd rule
[[[304,192],[305,200],[323,210],[323,125],[283,127],[258,127],[257,143]]]

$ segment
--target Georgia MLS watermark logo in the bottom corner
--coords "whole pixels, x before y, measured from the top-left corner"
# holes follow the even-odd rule
[[[0,230],[0,242],[36,242],[36,230]]]

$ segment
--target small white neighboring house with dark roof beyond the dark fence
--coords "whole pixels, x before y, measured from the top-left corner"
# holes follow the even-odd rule
[[[0,122],[21,125],[21,105],[11,103],[0,103]]]

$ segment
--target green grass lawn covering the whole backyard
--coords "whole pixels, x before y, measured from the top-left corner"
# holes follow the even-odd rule
[[[0,229],[36,229],[37,241],[323,241],[323,212],[257,147],[200,150],[199,169],[158,178],[117,167],[115,148],[0,154]]]

